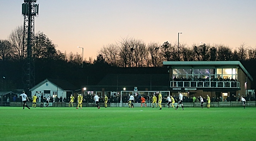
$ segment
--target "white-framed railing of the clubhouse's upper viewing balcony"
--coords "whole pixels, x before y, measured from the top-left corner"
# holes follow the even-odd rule
[[[240,88],[236,81],[171,81],[170,87],[184,88]]]

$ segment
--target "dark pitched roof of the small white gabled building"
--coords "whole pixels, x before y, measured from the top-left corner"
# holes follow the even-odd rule
[[[33,88],[31,88],[30,91],[33,91],[34,89],[40,87],[42,84],[44,84],[45,82],[48,82],[48,81],[50,81],[51,83],[56,85],[56,87],[60,87],[64,91],[74,91],[74,90],[78,89],[78,87],[75,87],[73,84],[69,83],[66,80],[61,80],[61,79],[45,79],[44,81],[40,82],[39,84],[37,84]]]

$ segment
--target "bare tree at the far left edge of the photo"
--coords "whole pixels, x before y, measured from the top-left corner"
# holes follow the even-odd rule
[[[0,39],[0,60],[8,60],[12,56],[11,43]]]

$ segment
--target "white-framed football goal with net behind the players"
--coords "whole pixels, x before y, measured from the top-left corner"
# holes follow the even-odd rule
[[[158,102],[158,94],[161,92],[162,98],[170,96],[170,91],[121,91],[121,101],[120,101],[120,107],[128,107],[129,98],[131,95],[134,96],[134,107],[140,107],[141,106],[141,98],[146,99],[146,105],[147,107],[151,107],[153,94],[157,97]],[[165,103],[165,99],[162,99],[162,103]],[[144,107],[144,104],[143,104]]]

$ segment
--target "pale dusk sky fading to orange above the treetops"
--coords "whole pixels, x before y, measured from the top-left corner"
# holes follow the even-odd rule
[[[0,39],[23,25],[23,0],[0,0]],[[256,0],[38,0],[35,33],[58,50],[96,58],[103,45],[122,37],[150,42],[241,43],[256,46]]]

